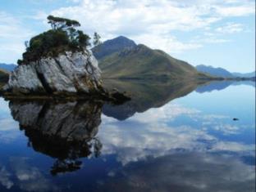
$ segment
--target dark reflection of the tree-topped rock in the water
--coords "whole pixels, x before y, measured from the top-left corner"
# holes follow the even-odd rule
[[[75,171],[81,166],[78,159],[100,154],[102,144],[95,136],[101,123],[101,103],[12,100],[9,106],[29,138],[28,145],[57,159],[53,175]]]

